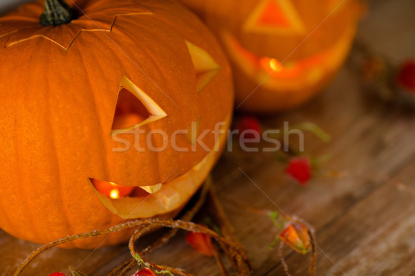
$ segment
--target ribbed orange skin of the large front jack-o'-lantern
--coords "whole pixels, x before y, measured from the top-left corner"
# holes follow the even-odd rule
[[[234,102],[230,66],[219,44],[178,3],[74,2],[88,17],[80,14],[62,26],[39,25],[43,1],[0,18],[0,113],[5,130],[0,136],[0,228],[37,243],[133,217],[174,217],[199,188],[220,150],[198,146],[192,151],[191,141],[180,134],[176,145],[187,152],[176,151],[171,143],[164,151],[140,152],[134,147],[146,147],[146,140],[136,141],[131,131],[139,128],[148,134],[160,129],[171,137],[197,120],[199,134],[214,129],[217,122],[225,122],[225,129]],[[203,89],[198,89],[195,67],[200,64],[194,63],[192,45],[216,62],[217,72]],[[145,107],[165,114],[154,116],[151,111],[151,120],[139,127],[111,130],[120,87],[142,91],[137,95],[151,99]],[[208,134],[203,142],[209,149],[221,148],[223,136],[216,140]],[[113,151],[125,141],[129,150]],[[150,141],[163,145],[164,138],[155,134]],[[107,199],[94,189],[91,178],[163,187],[104,205]],[[132,204],[136,210],[128,216],[125,210]],[[108,246],[127,241],[129,233],[66,247]]]

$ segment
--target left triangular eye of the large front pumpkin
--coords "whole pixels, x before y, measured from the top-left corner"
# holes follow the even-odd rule
[[[112,134],[145,125],[167,116],[149,95],[144,93],[127,77],[122,76],[116,111],[114,112]]]

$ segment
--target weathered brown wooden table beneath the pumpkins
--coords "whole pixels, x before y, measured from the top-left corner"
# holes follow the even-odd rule
[[[358,41],[395,64],[414,57],[415,1],[369,4]],[[415,194],[394,185],[398,180],[415,188],[415,113],[367,98],[349,62],[308,106],[261,118],[272,128],[282,127],[284,121],[315,122],[333,138],[324,144],[306,134],[308,154],[331,156],[308,186],[289,181],[275,153],[226,153],[213,172],[225,210],[252,259],[253,275],[284,275],[277,250],[268,250],[277,229],[266,217],[236,208],[223,195],[257,208],[297,214],[311,223],[319,248],[317,275],[415,275]],[[344,173],[325,176],[329,170]],[[219,275],[214,259],[196,254],[184,237],[181,232],[149,259],[195,275]],[[34,243],[0,232],[0,275],[11,275],[35,248]],[[291,273],[307,275],[309,254],[284,252]],[[68,273],[68,265],[80,265],[88,275],[106,275],[129,257],[125,245],[95,251],[53,249],[35,259],[23,275]]]

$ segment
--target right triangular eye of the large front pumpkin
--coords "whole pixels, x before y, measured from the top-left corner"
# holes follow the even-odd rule
[[[188,41],[186,41],[186,45],[189,49],[190,57],[192,57],[194,71],[196,73],[196,91],[199,93],[209,84],[221,67],[205,50]]]

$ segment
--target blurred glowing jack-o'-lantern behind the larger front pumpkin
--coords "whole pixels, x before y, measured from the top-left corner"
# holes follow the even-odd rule
[[[344,62],[357,0],[181,0],[230,58],[237,109],[293,109],[322,91]]]

